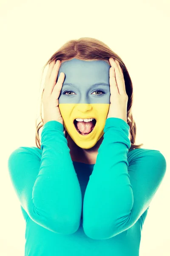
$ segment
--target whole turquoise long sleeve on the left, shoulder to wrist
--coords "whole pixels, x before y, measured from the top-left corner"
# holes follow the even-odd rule
[[[36,149],[17,148],[8,159],[20,204],[42,227],[60,234],[74,233],[80,224],[82,195],[63,125],[57,121],[45,123],[41,156]]]

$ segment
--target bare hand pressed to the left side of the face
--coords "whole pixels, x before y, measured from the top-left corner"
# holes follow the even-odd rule
[[[61,61],[57,60],[56,63],[55,60],[51,61],[48,67],[47,75],[45,77],[44,93],[42,95],[44,125],[48,121],[57,121],[63,125],[63,119],[59,110],[58,98],[62,89],[65,74],[61,73],[57,80],[60,66]]]

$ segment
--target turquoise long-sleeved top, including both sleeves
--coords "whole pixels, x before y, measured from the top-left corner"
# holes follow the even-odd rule
[[[129,150],[129,125],[111,117],[96,164],[73,162],[63,131],[49,121],[41,149],[19,147],[8,158],[26,221],[25,256],[139,256],[142,226],[166,172],[163,154]]]

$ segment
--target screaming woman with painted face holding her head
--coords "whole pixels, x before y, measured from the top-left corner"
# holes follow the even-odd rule
[[[47,64],[37,148],[17,148],[8,159],[25,256],[138,256],[166,160],[135,145],[127,68],[94,38],[67,42]]]

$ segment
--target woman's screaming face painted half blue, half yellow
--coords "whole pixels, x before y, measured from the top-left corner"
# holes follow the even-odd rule
[[[94,147],[104,134],[111,96],[110,67],[105,61],[74,58],[64,61],[59,68],[57,79],[61,72],[65,73],[59,110],[66,131],[80,148]],[[81,120],[91,118],[90,122]]]

